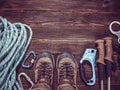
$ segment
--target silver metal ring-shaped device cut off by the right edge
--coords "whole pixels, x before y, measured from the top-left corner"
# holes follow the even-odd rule
[[[118,25],[120,25],[120,22],[119,22],[119,21],[113,21],[113,22],[111,22],[110,25],[109,25],[109,30],[111,31],[112,34],[114,34],[114,35],[116,35],[116,36],[118,37],[118,43],[120,44],[120,31],[114,31],[114,30],[112,29],[113,24],[118,24]]]

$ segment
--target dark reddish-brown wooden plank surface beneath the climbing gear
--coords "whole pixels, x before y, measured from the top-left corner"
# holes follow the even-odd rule
[[[0,15],[13,23],[22,22],[31,26],[33,38],[28,51],[34,50],[37,54],[50,51],[55,59],[62,51],[70,51],[79,64],[84,50],[95,48],[96,39],[106,36],[117,39],[108,28],[113,20],[120,21],[120,0],[113,1],[109,8],[102,8],[103,0],[4,0],[0,5]],[[120,27],[115,26],[115,29],[120,30]],[[117,62],[116,51],[114,57]],[[26,72],[34,81],[33,68],[26,70],[19,66],[17,72]],[[98,73],[96,75],[95,86],[88,87],[78,74],[79,90],[100,90]],[[120,90],[119,75],[117,64],[117,70],[112,74],[111,90]],[[22,81],[25,90],[28,90],[29,83],[24,78]],[[56,76],[54,82],[57,82]],[[106,89],[106,80],[104,85]],[[53,86],[57,90],[57,84]]]

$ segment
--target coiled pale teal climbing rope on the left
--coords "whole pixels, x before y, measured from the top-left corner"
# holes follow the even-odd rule
[[[22,90],[16,80],[16,68],[32,39],[32,29],[0,17],[0,90]]]

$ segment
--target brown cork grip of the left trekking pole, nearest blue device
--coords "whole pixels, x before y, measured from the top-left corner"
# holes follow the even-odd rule
[[[97,59],[97,63],[100,63],[100,64],[105,64],[104,63],[104,56],[105,56],[105,52],[104,52],[104,40],[96,40],[95,41],[98,45],[98,59]]]

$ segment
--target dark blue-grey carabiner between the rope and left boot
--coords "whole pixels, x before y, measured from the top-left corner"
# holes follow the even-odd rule
[[[26,65],[26,61],[28,60],[28,58],[33,55],[33,59],[31,60],[31,65]],[[25,58],[23,59],[23,62],[22,62],[22,67],[25,68],[25,69],[30,69],[34,66],[34,63],[36,61],[36,58],[37,58],[37,55],[34,51],[30,51],[26,56]]]

